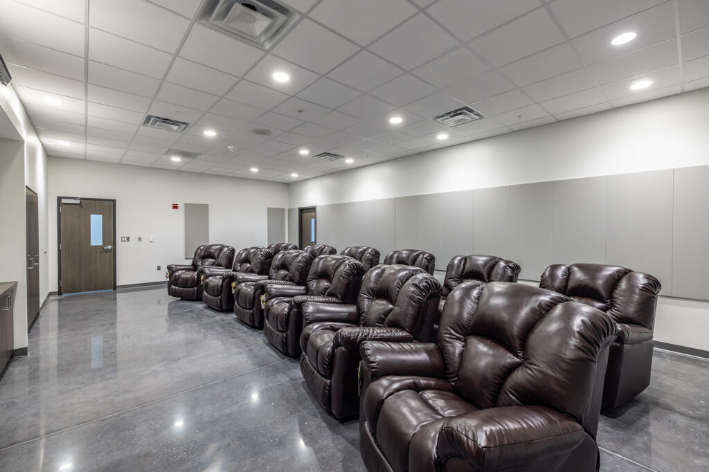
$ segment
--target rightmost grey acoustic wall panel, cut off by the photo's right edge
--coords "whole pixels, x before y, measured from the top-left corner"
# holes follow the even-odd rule
[[[672,295],[709,300],[709,166],[674,169]]]

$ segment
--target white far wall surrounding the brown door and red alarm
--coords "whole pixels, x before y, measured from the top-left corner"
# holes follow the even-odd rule
[[[167,264],[186,262],[184,203],[207,203],[210,243],[237,249],[266,245],[267,208],[288,207],[286,184],[50,157],[52,253],[57,247],[57,196],[116,200],[118,285],[164,281]],[[179,210],[172,210],[172,203]],[[121,242],[121,236],[130,236],[130,242]],[[148,242],[150,236],[155,242]],[[52,257],[50,290],[57,291],[57,285],[57,257]]]

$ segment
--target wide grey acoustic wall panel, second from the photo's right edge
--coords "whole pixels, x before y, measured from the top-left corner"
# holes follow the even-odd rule
[[[605,262],[652,274],[662,295],[672,295],[673,180],[672,169],[608,176]]]

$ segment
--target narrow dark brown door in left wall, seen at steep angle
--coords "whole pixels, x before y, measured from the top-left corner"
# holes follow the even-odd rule
[[[37,193],[25,187],[27,330],[40,313],[40,219]]]

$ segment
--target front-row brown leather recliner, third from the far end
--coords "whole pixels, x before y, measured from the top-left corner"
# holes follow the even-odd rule
[[[267,276],[234,274],[234,314],[249,326],[263,327],[261,296],[267,283],[304,285],[313,257],[300,249],[275,254]]]

